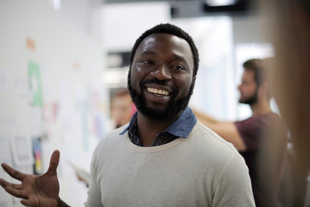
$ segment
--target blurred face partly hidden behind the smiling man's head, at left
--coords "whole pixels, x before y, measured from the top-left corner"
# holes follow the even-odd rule
[[[136,106],[131,100],[129,90],[120,88],[111,98],[111,119],[114,128],[127,124],[136,112]]]

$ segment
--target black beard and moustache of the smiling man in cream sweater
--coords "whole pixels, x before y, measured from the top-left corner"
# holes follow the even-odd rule
[[[128,73],[128,89],[131,96],[132,101],[137,107],[137,110],[141,112],[144,116],[146,116],[149,119],[157,120],[157,121],[166,121],[171,120],[175,118],[177,115],[179,115],[181,112],[183,112],[186,107],[188,106],[188,103],[191,99],[191,96],[193,94],[194,89],[194,82],[192,82],[190,90],[188,94],[185,97],[176,99],[177,96],[177,89],[173,88],[172,91],[172,97],[170,101],[167,103],[166,108],[163,110],[156,110],[153,108],[150,108],[146,104],[146,98],[143,94],[143,88],[146,83],[156,83],[159,85],[168,85],[166,80],[158,80],[158,79],[151,79],[148,81],[143,81],[139,84],[141,93],[139,93],[137,90],[133,89],[130,83],[130,70]]]

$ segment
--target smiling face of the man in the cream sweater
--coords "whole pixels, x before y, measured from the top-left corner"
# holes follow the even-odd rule
[[[128,88],[139,112],[170,120],[188,105],[193,92],[194,60],[189,44],[171,34],[146,37],[135,52]]]

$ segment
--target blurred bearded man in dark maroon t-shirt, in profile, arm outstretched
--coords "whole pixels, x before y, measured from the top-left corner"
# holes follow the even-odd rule
[[[221,122],[194,110],[199,121],[234,144],[244,157],[249,167],[256,207],[279,205],[277,195],[287,149],[285,125],[270,108],[272,95],[267,78],[269,62],[251,59],[243,64],[244,72],[238,87],[239,102],[251,107],[250,118]],[[270,148],[274,143],[277,143],[277,147]]]

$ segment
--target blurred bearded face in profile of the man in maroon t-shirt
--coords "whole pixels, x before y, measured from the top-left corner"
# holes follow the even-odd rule
[[[258,99],[258,86],[254,79],[255,72],[253,70],[244,70],[242,82],[238,89],[240,91],[240,103],[254,104]]]

